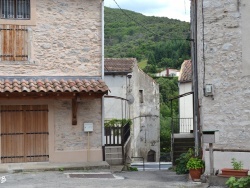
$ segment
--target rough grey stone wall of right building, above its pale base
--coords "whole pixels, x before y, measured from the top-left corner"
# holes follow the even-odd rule
[[[244,53],[249,54],[249,48],[243,46],[246,41],[242,33],[249,26],[250,2],[204,0],[203,11],[202,1],[197,2],[201,127],[203,130],[219,130],[220,138],[215,148],[249,150],[250,79],[249,74],[243,74],[249,60],[242,58]],[[249,41],[247,43],[249,46]],[[205,84],[213,84],[213,98],[204,96]],[[206,144],[203,146],[207,147]]]

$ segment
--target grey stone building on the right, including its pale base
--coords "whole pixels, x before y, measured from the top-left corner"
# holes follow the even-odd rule
[[[197,132],[219,131],[213,146],[214,170],[230,168],[233,157],[249,169],[250,1],[192,0],[191,4]],[[201,141],[209,172],[208,144]]]

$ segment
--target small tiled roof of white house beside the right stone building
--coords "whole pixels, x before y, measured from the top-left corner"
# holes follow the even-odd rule
[[[185,60],[181,65],[179,82],[191,82],[192,75],[192,62],[191,60]]]

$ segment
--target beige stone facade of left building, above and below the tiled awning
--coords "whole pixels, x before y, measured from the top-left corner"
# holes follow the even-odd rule
[[[29,46],[28,61],[0,61],[1,79],[101,79],[102,1],[31,0],[31,3],[32,7],[35,5],[35,15],[32,14],[35,19],[31,24],[25,20],[0,19],[0,26],[3,22],[25,25]],[[4,93],[0,107],[48,106],[49,162],[102,161],[102,95],[105,93],[54,90],[28,92],[26,97],[26,93],[15,92],[19,95],[11,98],[8,97],[13,93]],[[77,125],[72,125],[73,113],[76,113]],[[93,123],[93,132],[84,132],[84,123]]]

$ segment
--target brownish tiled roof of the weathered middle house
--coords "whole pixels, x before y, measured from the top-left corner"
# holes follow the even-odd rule
[[[105,72],[131,72],[135,63],[135,58],[105,58],[104,69]]]

